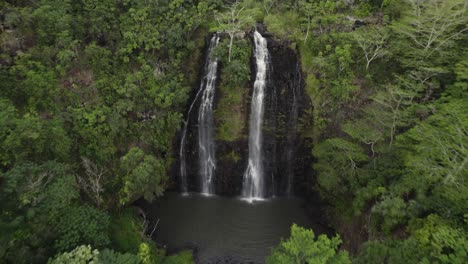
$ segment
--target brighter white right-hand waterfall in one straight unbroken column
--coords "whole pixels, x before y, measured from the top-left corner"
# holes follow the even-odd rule
[[[249,201],[265,197],[265,181],[263,179],[263,155],[262,155],[262,124],[267,84],[267,68],[269,54],[267,41],[263,36],[254,32],[255,60],[257,74],[254,82],[252,104],[250,109],[250,131],[249,131],[249,161],[244,173],[242,195]]]

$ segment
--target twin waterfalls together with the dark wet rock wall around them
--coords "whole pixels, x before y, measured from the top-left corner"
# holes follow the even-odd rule
[[[210,39],[200,88],[188,109],[181,133],[179,185],[183,193],[241,194],[242,199],[252,202],[293,192],[293,179],[298,169],[296,153],[300,149],[297,122],[304,97],[300,63],[297,54],[286,45],[272,41],[268,47],[267,39],[257,30],[252,36],[250,66],[255,80],[250,106],[244,102],[214,105],[219,68],[227,68],[218,63],[214,53],[220,34]],[[221,76],[225,75],[221,73]],[[247,92],[248,87],[244,87],[239,87],[244,90],[236,93],[245,96],[243,91]],[[217,100],[224,102],[223,96],[230,95],[223,91]],[[234,140],[216,139],[215,107],[239,111],[232,113],[233,120],[245,123],[233,123],[232,129],[248,127],[248,137],[247,131],[243,131],[238,132]],[[225,127],[230,123],[221,124],[223,131],[231,129]]]

